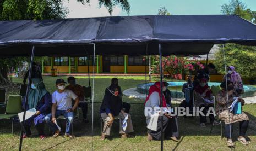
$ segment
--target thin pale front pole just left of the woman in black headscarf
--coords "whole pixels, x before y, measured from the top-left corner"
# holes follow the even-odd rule
[[[93,64],[95,65],[95,44],[94,44],[94,61]],[[94,78],[95,78],[95,73],[94,73],[94,68],[92,71],[92,107],[91,107],[91,150],[93,150],[93,138],[94,138]]]

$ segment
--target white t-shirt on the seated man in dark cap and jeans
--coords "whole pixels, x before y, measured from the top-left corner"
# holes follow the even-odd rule
[[[64,90],[62,93],[55,91],[52,94],[52,103],[57,103],[58,110],[67,110],[72,108],[72,99],[77,97],[71,90]]]

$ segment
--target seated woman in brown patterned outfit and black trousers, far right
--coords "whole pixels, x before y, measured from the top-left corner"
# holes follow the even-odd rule
[[[234,85],[231,81],[227,81],[227,90],[226,90],[226,82],[222,82],[220,86],[222,90],[219,91],[219,93],[216,96],[216,101],[217,101],[216,114],[219,117],[219,119],[225,121],[225,133],[227,137],[227,146],[229,147],[234,146],[234,143],[232,141],[232,132],[233,132],[234,123],[236,122],[239,122],[239,125],[240,125],[239,137],[237,138],[237,140],[242,144],[248,145],[249,143],[246,141],[246,138],[244,138],[248,128],[248,124],[249,124],[248,116],[244,112],[242,112],[242,114],[233,114],[232,112],[228,113],[228,105],[230,106],[232,104],[234,97],[238,97],[238,94],[235,91]],[[228,92],[228,102],[227,102],[227,92]],[[240,97],[238,97],[238,102],[241,102],[242,106],[244,105],[244,100]]]

